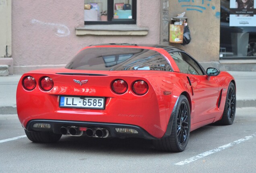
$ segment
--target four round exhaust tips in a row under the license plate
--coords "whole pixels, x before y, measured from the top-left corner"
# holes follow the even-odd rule
[[[87,128],[86,131],[81,131],[79,130],[79,127],[61,127],[60,133],[62,135],[70,135],[70,136],[82,136],[86,134],[88,137],[101,137],[101,138],[106,138],[109,135],[109,131],[107,129]]]

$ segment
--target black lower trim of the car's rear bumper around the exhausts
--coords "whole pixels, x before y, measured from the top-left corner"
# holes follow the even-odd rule
[[[34,124],[50,124],[49,129],[45,128],[35,128]],[[60,121],[60,120],[31,120],[27,123],[26,129],[28,131],[52,131],[53,133],[62,134],[62,127],[85,127],[90,129],[107,129],[109,135],[108,137],[118,137],[118,138],[127,138],[127,137],[138,137],[143,139],[157,139],[150,135],[145,129],[135,126],[135,125],[127,125],[127,124],[118,124],[118,123],[98,123],[98,122],[84,122],[84,121]],[[115,128],[123,128],[123,129],[134,129],[138,133],[118,133]]]

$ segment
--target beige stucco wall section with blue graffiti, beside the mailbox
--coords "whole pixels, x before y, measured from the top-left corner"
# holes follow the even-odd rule
[[[192,40],[186,45],[171,44],[186,50],[198,61],[219,60],[220,1],[171,0],[169,19],[186,12]]]

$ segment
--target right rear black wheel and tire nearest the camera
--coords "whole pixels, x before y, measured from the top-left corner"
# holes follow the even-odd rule
[[[190,135],[190,106],[188,99],[181,95],[178,99],[173,115],[171,135],[154,140],[155,148],[160,151],[184,151]]]

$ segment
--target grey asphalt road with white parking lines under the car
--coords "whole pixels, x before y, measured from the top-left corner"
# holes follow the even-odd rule
[[[256,170],[256,107],[238,108],[231,126],[193,131],[182,153],[143,139],[62,137],[32,143],[17,115],[0,115],[0,173],[243,173]]]

